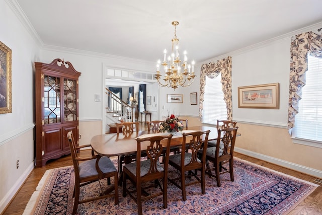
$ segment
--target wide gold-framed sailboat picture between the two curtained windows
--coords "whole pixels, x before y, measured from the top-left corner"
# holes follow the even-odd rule
[[[279,83],[238,87],[238,108],[279,109]]]

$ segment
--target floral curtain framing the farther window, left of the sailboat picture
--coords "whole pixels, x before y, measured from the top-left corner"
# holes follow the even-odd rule
[[[217,62],[210,62],[201,65],[200,71],[200,102],[199,118],[202,119],[203,96],[205,93],[206,76],[210,79],[216,78],[221,73],[221,89],[227,107],[228,120],[232,120],[232,100],[231,100],[231,57],[223,58]]]

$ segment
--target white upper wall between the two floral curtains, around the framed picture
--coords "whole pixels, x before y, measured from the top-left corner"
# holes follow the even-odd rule
[[[287,126],[291,38],[232,55],[232,114],[237,121]],[[279,83],[280,108],[238,108],[238,87]]]

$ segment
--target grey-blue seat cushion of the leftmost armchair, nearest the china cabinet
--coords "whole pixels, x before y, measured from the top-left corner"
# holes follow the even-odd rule
[[[84,178],[88,176],[97,175],[98,172],[96,171],[95,164],[96,159],[79,163],[79,177]],[[102,170],[103,173],[117,171],[111,159],[109,159],[108,157],[102,157],[100,159],[99,168]]]

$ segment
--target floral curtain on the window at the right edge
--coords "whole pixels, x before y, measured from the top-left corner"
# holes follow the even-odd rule
[[[290,85],[288,99],[287,126],[291,133],[295,115],[298,113],[298,102],[301,100],[302,88],[305,86],[307,71],[307,54],[322,57],[322,29],[305,32],[291,38]]]

